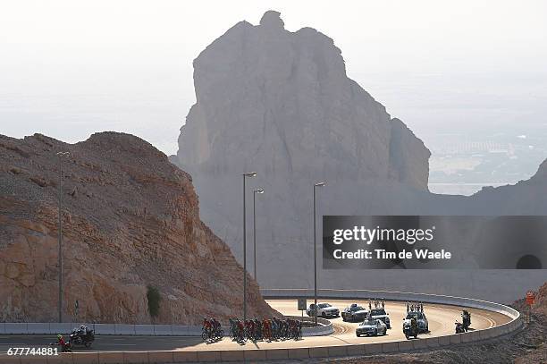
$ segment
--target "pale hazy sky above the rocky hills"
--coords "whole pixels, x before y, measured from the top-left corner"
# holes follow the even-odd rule
[[[349,76],[426,143],[455,123],[547,125],[542,0],[13,0],[0,3],[0,133],[126,131],[173,154],[192,60],[268,9],[333,38]]]

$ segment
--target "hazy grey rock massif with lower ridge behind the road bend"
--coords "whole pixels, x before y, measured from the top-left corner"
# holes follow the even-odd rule
[[[263,286],[311,286],[316,181],[328,184],[317,190],[318,215],[547,215],[545,173],[470,198],[429,193],[430,153],[422,141],[349,80],[331,38],[310,28],[284,30],[279,13],[265,13],[257,26],[236,24],[198,55],[194,69],[197,103],[173,162],[193,176],[202,218],[238,258],[241,173],[258,172],[248,191],[265,188],[257,197],[257,279]],[[252,248],[248,252],[252,257]],[[252,267],[251,258],[248,263]],[[496,301],[513,301],[544,282],[541,270],[322,270],[319,278],[324,288]]]

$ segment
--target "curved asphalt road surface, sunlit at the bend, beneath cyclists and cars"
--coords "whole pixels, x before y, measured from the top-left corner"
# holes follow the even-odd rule
[[[356,301],[347,300],[320,300],[328,301],[339,309],[344,309]],[[364,307],[368,307],[366,301],[357,301]],[[300,315],[297,310],[296,300],[268,300],[268,303],[285,315]],[[240,345],[233,343],[225,337],[219,343],[203,343],[198,337],[181,336],[97,336],[90,349],[75,348],[75,351],[202,351],[202,350],[252,350],[252,349],[281,349],[281,348],[305,348],[312,346],[383,343],[406,340],[402,334],[402,319],[406,315],[404,302],[386,302],[386,311],[390,314],[391,330],[385,336],[357,337],[355,329],[358,323],[343,322],[341,317],[332,320],[334,333],[325,336],[305,337],[303,340],[282,341],[273,343],[246,343]],[[425,304],[424,311],[429,321],[430,333],[420,334],[420,337],[433,337],[454,334],[454,322],[461,320],[461,309],[455,306],[438,304]],[[496,312],[484,309],[468,309],[471,312],[471,327],[484,329],[509,322],[510,318]],[[55,341],[55,335],[0,335],[0,353],[13,347],[44,347]]]

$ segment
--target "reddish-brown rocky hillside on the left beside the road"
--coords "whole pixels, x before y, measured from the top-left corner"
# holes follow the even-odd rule
[[[56,320],[60,166],[65,320],[149,323],[148,285],[162,296],[156,323],[241,316],[242,269],[199,220],[189,174],[105,132],[73,145],[0,136],[0,321]],[[274,313],[252,279],[248,301],[251,316]]]

